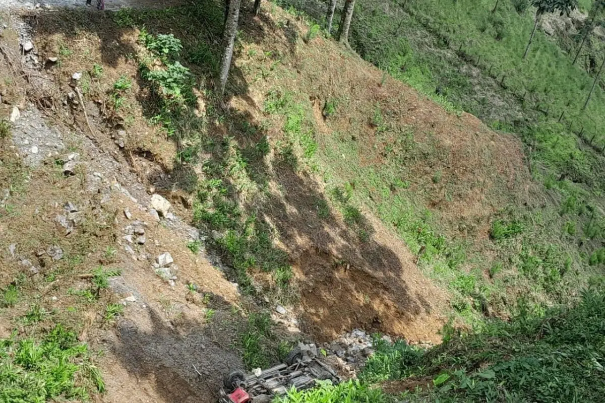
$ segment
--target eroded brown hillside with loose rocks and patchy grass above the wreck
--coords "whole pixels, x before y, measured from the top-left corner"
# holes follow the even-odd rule
[[[594,274],[544,230],[567,219],[517,137],[294,13],[244,7],[226,100],[218,2],[2,21],[4,359],[60,324],[103,352],[76,357],[102,401],[214,401],[226,370],[355,328],[439,343]]]

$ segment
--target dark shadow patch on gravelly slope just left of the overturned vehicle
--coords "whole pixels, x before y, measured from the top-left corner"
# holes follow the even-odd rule
[[[120,321],[113,354],[137,379],[154,382],[163,402],[217,401],[224,373],[241,368],[237,350],[227,347],[232,343],[224,331],[224,323],[233,320],[229,311],[218,310],[210,323],[186,318],[177,326],[151,307],[146,311],[146,318]]]

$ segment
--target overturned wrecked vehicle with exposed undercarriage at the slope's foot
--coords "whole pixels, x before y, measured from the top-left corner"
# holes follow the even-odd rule
[[[219,403],[269,403],[275,396],[286,395],[290,388],[304,390],[315,387],[318,380],[341,382],[336,372],[316,357],[294,349],[283,364],[246,374],[235,370],[223,378]]]

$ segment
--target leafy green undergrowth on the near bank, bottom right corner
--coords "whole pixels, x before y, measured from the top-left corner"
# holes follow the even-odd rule
[[[605,289],[581,292],[573,307],[535,315],[523,303],[510,322],[475,334],[446,334],[428,350],[378,336],[361,382],[290,392],[283,403],[319,402],[597,402],[605,393]],[[368,384],[399,381],[401,398]],[[391,382],[389,389],[397,387]],[[370,392],[371,391],[371,392]]]

